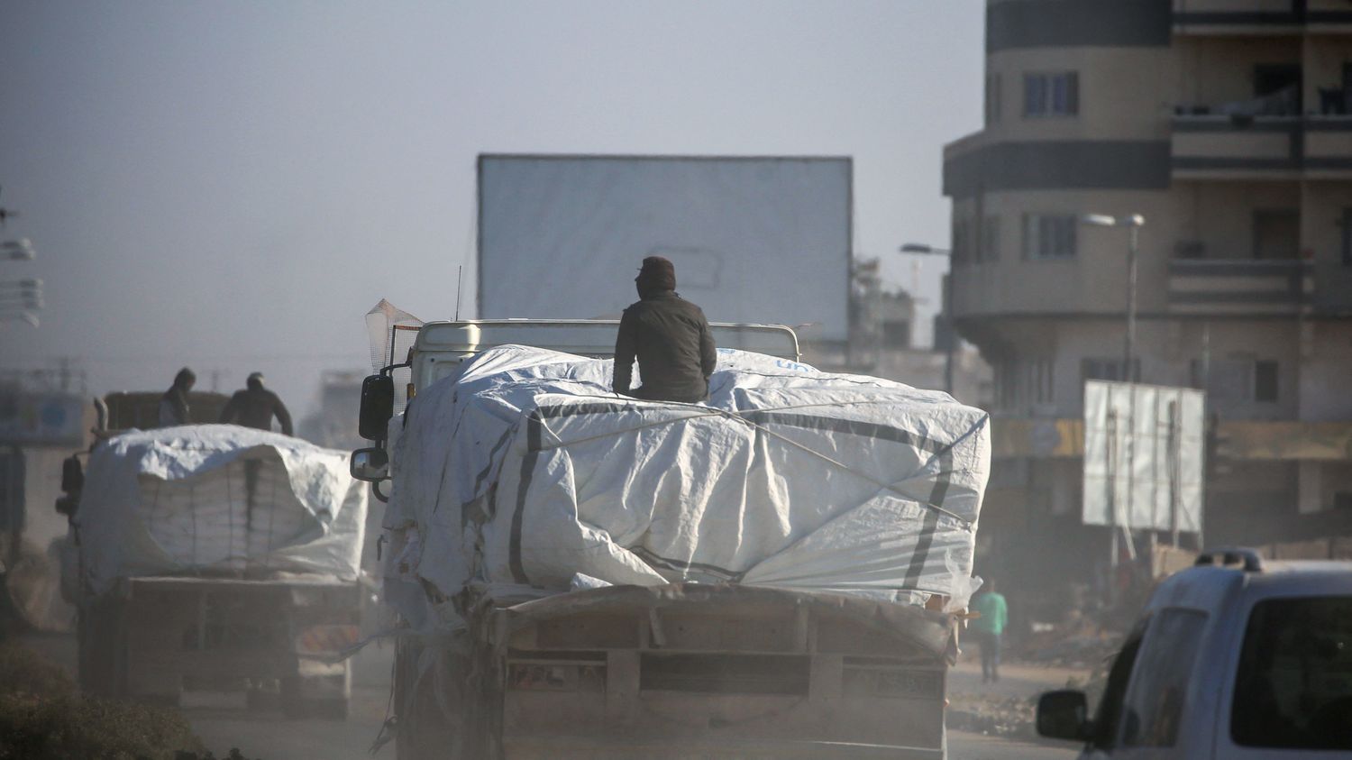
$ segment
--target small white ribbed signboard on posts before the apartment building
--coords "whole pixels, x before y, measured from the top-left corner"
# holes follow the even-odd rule
[[[1202,391],[1084,383],[1084,522],[1202,530]]]

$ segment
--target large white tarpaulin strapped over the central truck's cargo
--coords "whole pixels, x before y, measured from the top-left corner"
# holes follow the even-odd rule
[[[965,606],[986,412],[726,349],[707,403],[641,402],[610,392],[611,364],[503,346],[420,389],[385,514],[415,626],[419,577],[448,598],[704,581]]]

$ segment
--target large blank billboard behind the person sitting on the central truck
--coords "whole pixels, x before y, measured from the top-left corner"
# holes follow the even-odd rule
[[[842,341],[849,158],[481,156],[479,316],[619,316],[645,256],[711,322]]]

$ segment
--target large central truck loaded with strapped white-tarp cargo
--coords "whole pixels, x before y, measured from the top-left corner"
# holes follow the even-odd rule
[[[614,320],[431,322],[366,379],[400,760],[946,756],[987,415],[711,329],[702,404],[610,392]]]

